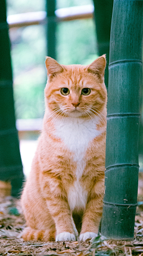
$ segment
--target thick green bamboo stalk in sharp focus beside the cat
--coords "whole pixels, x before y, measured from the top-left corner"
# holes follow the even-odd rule
[[[142,15],[142,0],[114,0],[101,225],[101,234],[110,239],[133,239],[139,169]]]

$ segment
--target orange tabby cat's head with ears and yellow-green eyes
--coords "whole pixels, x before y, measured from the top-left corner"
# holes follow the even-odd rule
[[[58,116],[75,118],[93,118],[102,112],[107,103],[105,63],[105,55],[87,66],[60,65],[47,57],[46,108]]]

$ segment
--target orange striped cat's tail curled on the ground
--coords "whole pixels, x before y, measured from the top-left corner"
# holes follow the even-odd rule
[[[27,227],[24,228],[21,237],[25,241],[35,240],[35,241],[54,241],[55,240],[55,230],[35,230],[33,228]]]

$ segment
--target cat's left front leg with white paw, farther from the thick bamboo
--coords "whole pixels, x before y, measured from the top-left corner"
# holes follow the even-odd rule
[[[56,241],[76,241],[71,221],[71,211],[67,202],[67,195],[59,179],[50,179],[43,187],[44,197],[55,222]],[[47,188],[47,189],[46,189]]]

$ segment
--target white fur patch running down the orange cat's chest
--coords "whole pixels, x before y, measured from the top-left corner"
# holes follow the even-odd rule
[[[76,162],[76,182],[69,188],[68,201],[70,209],[85,208],[88,194],[80,185],[80,177],[86,165],[84,159],[90,141],[100,135],[96,129],[96,121],[80,118],[65,118],[55,121],[55,135],[64,141],[67,148],[74,153],[73,161]]]

